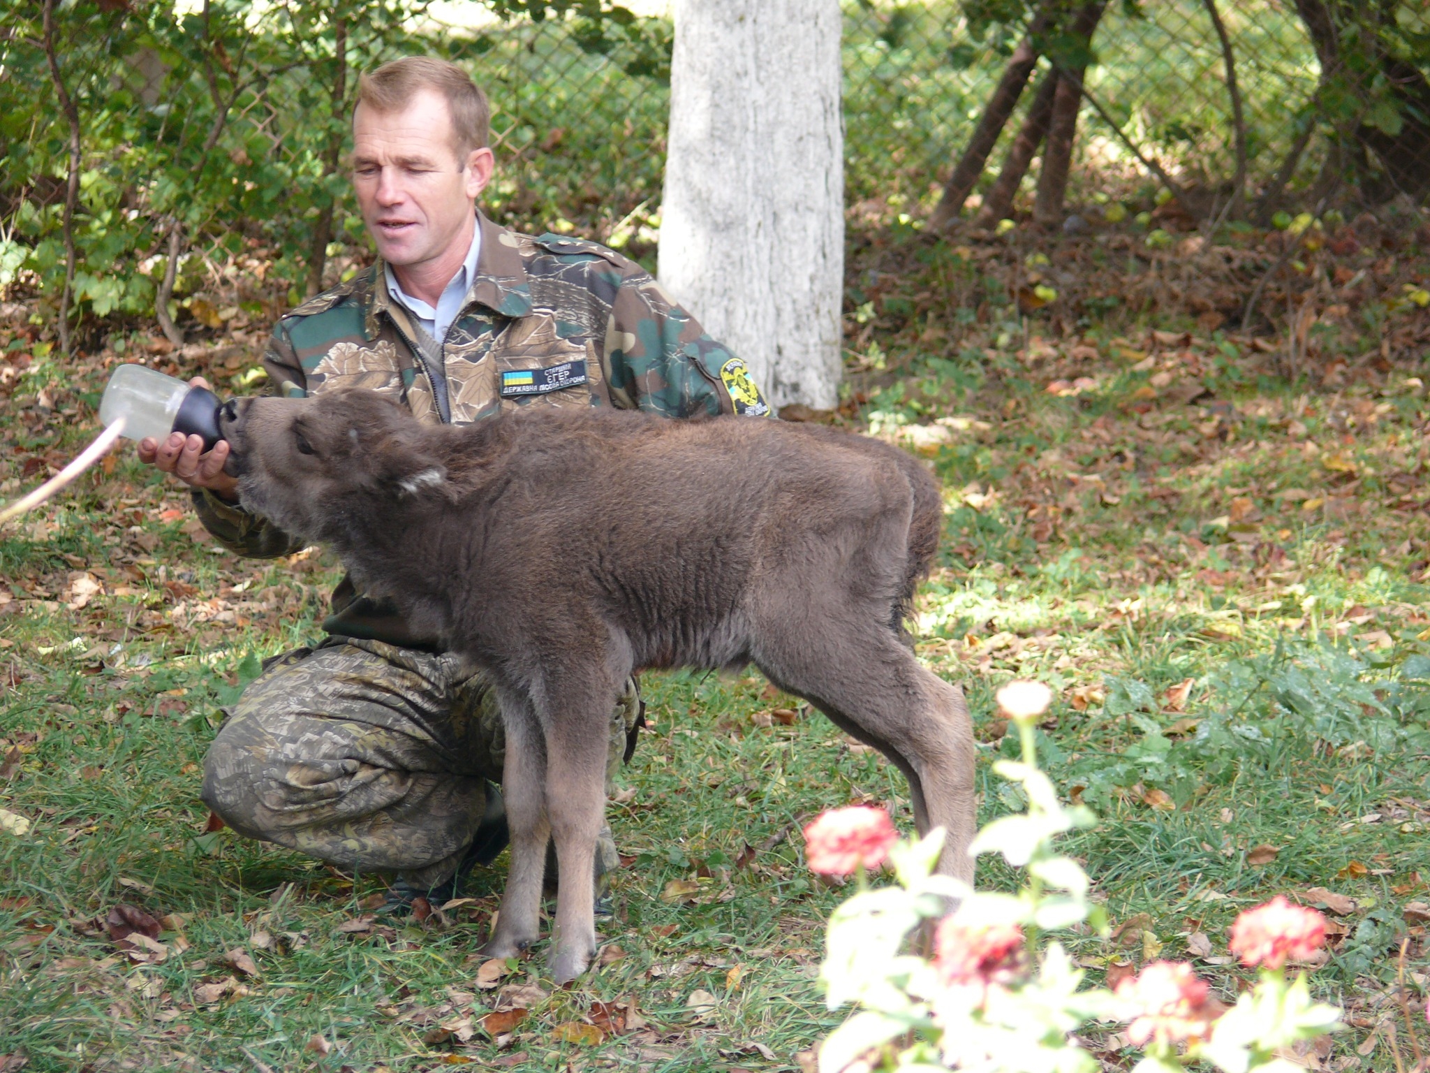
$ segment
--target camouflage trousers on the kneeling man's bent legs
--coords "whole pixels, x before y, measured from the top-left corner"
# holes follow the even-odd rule
[[[443,883],[506,753],[493,690],[459,668],[455,655],[342,637],[277,657],[209,748],[204,803],[250,838],[412,887]],[[608,787],[639,714],[632,680],[611,714]]]

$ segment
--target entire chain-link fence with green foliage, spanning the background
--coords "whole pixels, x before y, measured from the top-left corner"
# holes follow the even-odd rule
[[[1025,30],[974,33],[974,0],[842,3],[851,226],[924,220]],[[1333,114],[1334,79],[1323,77],[1317,59],[1324,29],[1313,41],[1300,14],[1317,3],[1108,0],[1083,80],[1068,207],[1085,213],[1084,206],[1105,202],[1108,210],[1115,203],[1123,212],[1151,212],[1160,187],[1174,183],[1177,206],[1195,200],[1190,215],[1204,219],[1228,206],[1233,179],[1244,169],[1247,207],[1267,217],[1271,202],[1257,203],[1260,193],[1284,187],[1287,197],[1274,207],[1294,213],[1337,190],[1350,200],[1341,176],[1358,166],[1351,155],[1366,157],[1367,147],[1381,159],[1400,155],[1399,176],[1391,176],[1399,189],[1419,182],[1416,199],[1430,193],[1430,159],[1421,166],[1414,156],[1419,146],[1430,147],[1430,119],[1391,109],[1376,120],[1387,146],[1381,152],[1376,130],[1366,133],[1366,117],[1380,107],[1373,99],[1356,99],[1353,86]],[[589,236],[654,268],[674,36],[661,0],[645,0],[646,10],[626,20],[592,19],[582,6],[568,6],[565,17],[500,17],[493,9],[556,6],[482,0],[465,6],[468,21],[459,26],[438,21],[430,0],[372,0],[365,10],[382,17],[353,19],[342,49],[333,37],[339,20],[320,6],[303,9],[312,26],[290,26],[286,9],[246,13],[233,0],[214,6],[229,11],[229,52],[197,23],[182,23],[170,52],[187,52],[174,54],[146,43],[137,16],[96,4],[84,9],[87,21],[74,17],[61,56],[84,120],[73,308],[94,315],[96,325],[112,315],[147,319],[162,306],[170,318],[217,332],[232,326],[235,309],[255,323],[270,320],[305,292],[356,270],[370,255],[340,152],[353,74],[420,50],[462,63],[490,96],[499,169],[483,205],[499,222]],[[0,155],[0,299],[37,295],[54,315],[66,273],[67,127],[47,94],[36,30],[21,16],[0,17],[0,97],[14,113],[9,126],[0,119],[0,133],[10,136]],[[113,40],[92,26],[107,26]],[[206,77],[216,72],[223,79]],[[994,179],[1048,72],[1048,59],[1038,59],[962,202],[965,215],[998,189]],[[1413,64],[1410,72],[1424,83]],[[220,86],[232,86],[232,96]],[[1430,83],[1424,93],[1430,116]],[[20,123],[20,102],[33,100],[40,102],[31,109],[36,122]],[[1421,123],[1420,143],[1393,143],[1397,123],[1407,130]],[[1007,209],[990,196],[981,215],[998,220],[1027,212],[1031,176],[1041,169],[1032,160],[1025,170],[1030,177]],[[1175,206],[1161,212],[1168,207]],[[180,269],[166,292],[170,262]]]

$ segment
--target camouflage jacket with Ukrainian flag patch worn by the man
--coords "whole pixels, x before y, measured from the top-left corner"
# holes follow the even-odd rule
[[[476,276],[440,346],[448,415],[380,262],[277,322],[263,355],[269,391],[370,388],[400,399],[419,421],[458,425],[521,406],[616,406],[672,418],[769,413],[744,361],[639,265],[595,242],[519,235],[480,213],[478,226]],[[209,532],[240,555],[275,558],[300,547],[212,492],[194,492],[194,505]],[[346,578],[323,628],[432,647]]]

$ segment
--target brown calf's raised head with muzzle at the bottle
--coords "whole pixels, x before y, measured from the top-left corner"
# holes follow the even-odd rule
[[[310,541],[345,542],[383,505],[440,485],[446,469],[428,429],[378,392],[306,399],[237,399],[219,415],[232,446],[226,469],[243,505]]]

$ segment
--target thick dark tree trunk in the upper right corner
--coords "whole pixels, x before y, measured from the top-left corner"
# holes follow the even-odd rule
[[[1360,99],[1366,109],[1389,100],[1399,113],[1400,129],[1396,133],[1389,133],[1384,123],[1367,122],[1356,122],[1343,132],[1361,150],[1373,153],[1383,170],[1381,176],[1376,176],[1367,167],[1356,167],[1361,193],[1370,200],[1384,200],[1396,193],[1423,199],[1430,193],[1430,80],[1414,64],[1393,56],[1384,44],[1384,36],[1397,30],[1394,6],[1296,0],[1296,10],[1321,62],[1321,87],[1331,84],[1331,96],[1350,94]],[[1343,27],[1354,33],[1346,34]],[[1347,50],[1358,54],[1347,62]],[[1383,77],[1384,89],[1370,84],[1377,74]]]

